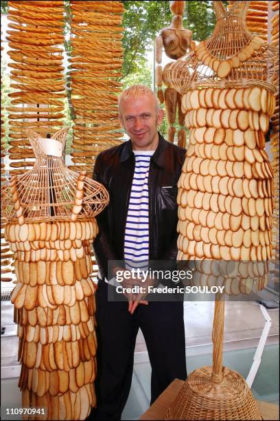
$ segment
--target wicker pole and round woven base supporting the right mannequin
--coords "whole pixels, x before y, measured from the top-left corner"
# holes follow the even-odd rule
[[[223,367],[224,294],[216,294],[213,320],[213,366],[193,371],[165,420],[262,420],[244,378]]]

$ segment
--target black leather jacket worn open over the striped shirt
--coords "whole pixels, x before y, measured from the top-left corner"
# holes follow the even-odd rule
[[[184,159],[185,149],[166,142],[159,134],[148,180],[150,260],[176,259],[177,182]],[[126,216],[134,169],[135,155],[130,140],[100,153],[95,162],[93,179],[104,184],[110,196],[110,203],[97,216],[99,233],[93,243],[102,279],[108,279],[108,260],[124,259]]]

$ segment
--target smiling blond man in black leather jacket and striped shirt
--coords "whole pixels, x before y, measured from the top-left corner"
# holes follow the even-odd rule
[[[93,174],[110,195],[93,244],[100,269],[96,420],[121,419],[139,327],[152,366],[151,402],[174,378],[187,377],[182,301],[108,301],[108,288],[114,288],[107,283],[108,261],[176,259],[176,184],[185,158],[185,149],[158,133],[163,111],[148,87],[135,85],[119,96],[119,118],[130,140],[100,153]]]

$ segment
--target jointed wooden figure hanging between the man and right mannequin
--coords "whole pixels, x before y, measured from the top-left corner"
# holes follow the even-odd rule
[[[168,123],[168,140],[174,142],[176,128],[173,126],[176,120],[176,110],[178,109],[178,123],[184,125],[185,114],[182,112],[182,96],[168,83],[165,74],[171,63],[167,63],[164,69],[161,66],[162,52],[177,60],[185,56],[191,43],[192,32],[183,27],[183,14],[185,10],[185,1],[170,1],[170,10],[174,17],[172,23],[167,28],[163,28],[156,37],[156,86],[159,88],[158,97],[160,102],[165,102],[165,113]],[[161,87],[166,85],[165,91]],[[178,131],[178,145],[185,147],[186,131],[183,127]]]

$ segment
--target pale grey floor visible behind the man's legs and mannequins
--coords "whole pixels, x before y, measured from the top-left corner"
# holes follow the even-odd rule
[[[9,315],[12,308],[8,309],[8,304],[10,303],[1,303],[1,325],[12,323],[12,317]],[[213,302],[185,303],[188,373],[202,365],[211,364],[213,306]],[[278,310],[268,310],[268,314],[272,320],[272,326],[252,391],[257,399],[277,402],[279,393],[279,313]],[[253,362],[255,347],[259,342],[264,323],[264,316],[257,303],[226,303],[224,365],[237,370],[244,378],[248,375]],[[17,343],[15,336],[8,336],[1,341],[2,405],[21,404],[21,393],[17,387],[19,376],[19,365],[16,363]],[[135,349],[132,387],[122,415],[123,420],[137,420],[141,413],[150,406],[150,370],[145,341],[139,332]]]

